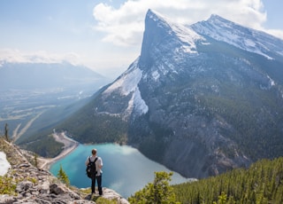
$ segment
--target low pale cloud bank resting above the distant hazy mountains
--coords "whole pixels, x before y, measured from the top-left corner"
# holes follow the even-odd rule
[[[119,53],[106,51],[79,55],[74,52],[50,53],[47,51],[25,52],[13,49],[0,49],[0,68],[6,63],[62,63],[68,62],[74,66],[86,66],[101,75],[115,79],[133,62],[139,54],[137,51]],[[94,58],[95,56],[95,58]],[[111,60],[109,60],[111,59]]]

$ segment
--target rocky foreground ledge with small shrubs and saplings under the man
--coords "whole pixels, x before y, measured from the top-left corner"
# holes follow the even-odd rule
[[[91,198],[91,189],[78,189],[69,184],[64,169],[54,177],[46,169],[35,167],[17,145],[0,137],[0,152],[6,154],[11,168],[0,176],[0,203],[108,203],[128,204],[119,193],[103,188],[103,196]],[[35,154],[36,155],[36,154]],[[34,154],[34,161],[37,156]],[[36,163],[36,162],[34,162]]]

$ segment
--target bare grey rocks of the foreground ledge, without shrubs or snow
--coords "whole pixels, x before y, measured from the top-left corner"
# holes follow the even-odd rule
[[[34,167],[17,146],[6,144],[2,140],[0,147],[0,151],[4,151],[7,160],[11,162],[11,169],[5,177],[11,178],[11,185],[16,185],[15,192],[0,195],[0,203],[95,203],[90,200],[89,194],[73,186],[71,189],[59,182],[49,171]],[[107,188],[103,188],[103,198],[128,204],[117,192]]]

